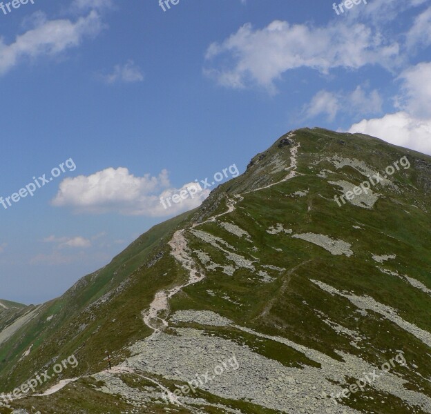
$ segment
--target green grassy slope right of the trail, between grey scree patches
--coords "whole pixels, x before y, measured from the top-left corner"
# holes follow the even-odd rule
[[[345,140],[344,144],[339,142],[341,138]],[[300,134],[300,142],[301,152],[305,152],[299,159],[298,171],[303,174],[302,177],[243,195],[244,200],[237,204],[236,211],[220,218],[247,230],[253,239],[253,245],[259,249],[257,252],[251,252],[251,245],[245,239],[239,240],[217,224],[209,223],[200,227],[201,230],[221,237],[238,251],[247,252],[247,259],[257,257],[260,264],[271,264],[289,270],[282,275],[277,275],[276,272],[272,274],[277,280],[267,285],[258,282],[256,276],[250,277],[249,270],[238,270],[233,277],[225,275],[219,269],[212,271],[202,283],[186,288],[186,295],[174,297],[172,311],[187,308],[215,311],[238,324],[270,335],[288,337],[337,359],[340,357],[334,353],[334,349],[358,355],[373,364],[382,364],[396,355],[396,349],[403,349],[410,364],[418,366],[416,372],[425,378],[430,377],[431,361],[423,358],[423,355],[429,353],[428,346],[379,314],[370,312],[371,317],[362,317],[354,311],[354,306],[347,299],[324,293],[309,279],[318,279],[338,290],[353,291],[356,295],[370,295],[376,301],[398,309],[399,315],[406,321],[430,331],[429,295],[406,284],[399,277],[382,273],[377,266],[418,279],[431,288],[430,213],[412,206],[430,205],[430,194],[424,194],[420,188],[418,171],[414,165],[417,159],[430,163],[431,158],[389,146],[378,139],[338,135],[326,130],[305,130]],[[276,148],[277,146],[270,148],[265,158],[269,158]],[[402,190],[396,193],[379,186],[378,191],[385,198],[381,198],[373,210],[350,204],[339,208],[332,199],[338,194],[336,187],[316,177],[320,168],[334,170],[334,166],[326,161],[314,170],[310,170],[309,166],[316,154],[329,157],[338,154],[352,158],[352,153],[355,158],[365,159],[379,171],[408,154],[412,168],[401,170],[393,177]],[[258,168],[258,164],[250,168],[241,177],[241,181],[252,179],[253,168]],[[352,182],[363,181],[363,176],[351,167],[344,167],[338,172],[339,177],[331,175],[332,180],[346,179],[341,174],[344,172]],[[238,181],[231,184],[232,190],[243,185]],[[415,187],[419,190],[415,190]],[[307,197],[286,197],[298,190],[307,189]],[[271,208],[268,208],[268,200],[271,200]],[[220,211],[215,213],[221,211],[220,207]],[[293,229],[294,233],[320,233],[349,242],[352,244],[354,257],[333,256],[323,248],[300,239],[269,235],[266,229],[275,223]],[[361,224],[363,230],[353,228],[358,224]],[[191,234],[189,237],[191,247],[202,250],[200,239]],[[280,248],[282,252],[274,248]],[[220,250],[211,246],[206,246],[204,251],[211,256],[213,262],[220,264],[225,260]],[[372,254],[395,254],[396,260],[381,265],[374,262]],[[215,293],[215,296],[208,290]],[[238,304],[223,299],[226,293],[240,302],[240,311]],[[264,313],[268,308],[269,312]],[[352,346],[347,337],[337,335],[318,317],[314,309],[322,311],[329,319],[346,328],[364,333],[367,339],[360,344],[361,349]],[[277,358],[277,351],[274,351],[273,357]],[[399,368],[399,371],[411,381],[412,389],[420,391],[423,387],[431,395],[428,382],[420,380],[406,369]],[[352,402],[352,406],[365,408],[365,403],[358,398],[357,402]],[[397,402],[395,406],[400,404],[401,402]],[[389,413],[393,409],[393,406],[391,408],[387,404],[385,407],[378,405],[374,409],[379,413]]]

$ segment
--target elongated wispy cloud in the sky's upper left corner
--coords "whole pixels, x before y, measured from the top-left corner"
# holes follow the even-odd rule
[[[79,46],[86,36],[102,30],[99,14],[95,10],[86,17],[79,17],[75,23],[67,19],[47,20],[44,14],[37,14],[35,27],[16,37],[7,45],[0,38],[0,75],[16,66],[21,59],[35,59],[55,56],[68,48]]]

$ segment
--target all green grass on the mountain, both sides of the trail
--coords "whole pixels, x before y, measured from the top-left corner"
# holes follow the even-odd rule
[[[287,337],[336,359],[341,357],[334,352],[335,349],[358,355],[373,364],[382,364],[394,357],[396,349],[403,349],[409,364],[418,366],[416,372],[425,378],[430,377],[430,358],[423,357],[429,353],[429,348],[419,339],[383,319],[379,314],[370,311],[367,317],[363,317],[347,299],[323,292],[310,282],[310,279],[318,279],[338,290],[352,291],[356,295],[370,295],[376,301],[398,309],[399,315],[406,321],[430,331],[429,295],[406,284],[399,277],[382,273],[377,266],[414,277],[431,288],[430,213],[426,210],[430,205],[430,193],[426,192],[426,180],[424,181],[423,172],[418,168],[421,165],[420,160],[431,165],[431,158],[363,135],[345,135],[307,128],[296,133],[301,143],[298,172],[303,175],[265,190],[243,194],[250,188],[278,181],[286,175],[284,171],[275,175],[269,174],[274,168],[271,164],[272,157],[279,154],[282,159],[289,159],[290,147],[279,148],[277,142],[269,150],[257,155],[244,175],[213,191],[202,208],[192,213],[193,219],[222,213],[226,210],[225,197],[232,197],[239,191],[244,199],[238,202],[233,213],[220,217],[220,221],[229,221],[247,230],[253,243],[228,233],[217,223],[204,224],[200,226],[200,230],[222,237],[247,259],[258,259],[256,266],[260,270],[263,269],[260,264],[271,264],[286,270],[278,273],[265,268],[275,278],[270,284],[262,284],[256,273],[246,269],[236,270],[233,276],[222,273],[220,269],[206,272],[206,279],[185,288],[184,293],[173,297],[171,310],[211,310],[242,326],[269,335]],[[379,199],[373,210],[350,204],[339,208],[332,199],[338,194],[337,187],[328,184],[327,179],[316,176],[321,168],[335,170],[334,166],[327,161],[317,166],[313,164],[316,159],[332,157],[335,154],[363,159],[379,171],[403,155],[408,155],[412,167],[410,170],[396,172],[392,177],[392,181],[401,189],[399,192],[378,187],[378,192],[385,197]],[[330,179],[347,179],[359,183],[363,181],[363,176],[346,166],[338,170],[337,174],[331,175]],[[296,191],[307,189],[307,196],[291,197]],[[57,355],[59,350],[62,356],[79,350],[79,367],[70,375],[68,373],[68,376],[73,376],[103,369],[105,362],[102,362],[102,358],[106,349],[113,353],[115,362],[121,361],[126,357],[126,353],[122,351],[125,344],[131,344],[136,339],[149,335],[149,330],[142,323],[140,311],[148,306],[157,290],[184,277],[184,270],[175,264],[169,255],[166,241],[176,226],[188,223],[186,217],[187,215],[183,215],[150,230],[117,256],[110,265],[99,270],[97,277],[89,275],[64,297],[47,305],[43,317],[39,319],[41,326],[27,326],[23,332],[16,335],[15,339],[26,333],[26,339],[21,340],[19,352],[33,343],[36,337],[40,346],[37,352],[35,350],[35,353],[30,354],[28,362],[15,366],[15,384],[25,378],[31,368],[46,363],[50,357]],[[352,244],[354,256],[334,256],[323,248],[300,239],[292,239],[287,235],[269,235],[267,228],[276,223],[291,228],[294,233],[312,232],[343,239]],[[353,228],[358,225],[361,229]],[[162,236],[164,237],[160,239]],[[200,239],[189,231],[186,231],[186,237],[193,250],[204,250],[213,262],[228,264],[220,250],[209,244],[202,244]],[[254,251],[253,247],[258,250]],[[164,252],[160,261],[151,268],[140,267],[159,251]],[[372,254],[396,254],[396,259],[378,264],[372,259]],[[197,257],[196,260],[198,262]],[[127,280],[127,284],[117,295],[108,298],[107,302],[99,306],[88,306],[124,280]],[[209,291],[215,293],[215,296]],[[237,303],[227,300],[226,296]],[[352,346],[348,337],[337,335],[318,317],[316,310],[325,313],[333,322],[365,335],[359,342],[361,349]],[[52,328],[44,328],[43,319],[52,313],[57,313],[55,325],[52,324]],[[83,325],[86,325],[85,328],[79,332],[79,326]],[[207,331],[247,344],[256,352],[277,359],[287,366],[314,364],[293,349],[265,339],[258,342],[255,337],[233,328],[211,328]],[[1,359],[6,348],[0,347]],[[37,356],[38,353],[43,357]],[[15,352],[14,355],[19,353]],[[2,366],[3,378],[15,364],[16,357],[10,357],[4,368]],[[409,380],[409,388],[431,395],[429,383],[421,380],[418,375],[413,375],[402,367],[396,367],[394,371]],[[52,405],[57,412],[68,412],[70,403],[67,399],[74,398],[77,399],[74,404],[82,407],[83,412],[105,412],[102,408],[100,411],[85,411],[90,409],[88,404],[93,397],[100,398],[100,395],[91,394],[92,391],[85,382],[86,380],[82,380],[78,384],[70,384],[64,391],[50,397],[49,403],[46,398],[39,408],[43,406],[48,410],[44,412],[54,412],[49,408]],[[12,384],[12,381],[8,384]],[[169,382],[165,384],[169,386]],[[86,397],[77,397],[78,389],[79,392],[85,390]],[[361,398],[363,395],[373,397],[374,400],[365,400]],[[403,402],[391,396],[385,404],[381,404],[383,397],[387,396],[368,388],[345,402],[357,409],[382,414],[412,412]],[[115,402],[120,404],[118,411],[115,411],[109,398],[106,396],[104,402],[99,402],[99,407],[107,406],[112,413],[120,412],[121,404]],[[215,402],[221,402],[216,397],[211,398]],[[36,404],[33,399],[21,404],[28,406],[30,402]],[[269,413],[263,408],[251,407],[244,402],[229,404],[238,408],[246,407],[246,411],[250,413]],[[159,412],[157,408],[153,409],[154,411],[149,412]]]

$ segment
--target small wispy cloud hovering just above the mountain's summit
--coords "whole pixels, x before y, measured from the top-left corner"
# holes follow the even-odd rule
[[[361,86],[350,94],[342,92],[328,92],[320,90],[314,95],[312,101],[305,106],[303,112],[307,118],[325,114],[329,121],[334,121],[338,112],[347,112],[355,115],[365,115],[381,111],[383,99],[377,90],[368,95]]]

